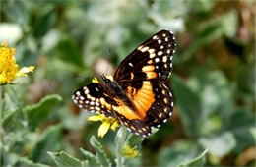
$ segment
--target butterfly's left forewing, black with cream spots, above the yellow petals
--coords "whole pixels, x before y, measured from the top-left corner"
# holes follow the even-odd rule
[[[92,113],[102,114],[114,118],[112,105],[115,101],[108,95],[107,88],[100,83],[90,83],[74,92],[72,99],[79,108],[86,109]]]

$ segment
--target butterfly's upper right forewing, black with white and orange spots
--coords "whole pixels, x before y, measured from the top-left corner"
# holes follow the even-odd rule
[[[160,30],[122,61],[115,72],[114,80],[118,83],[167,80],[172,71],[175,46],[173,33],[169,30]]]

